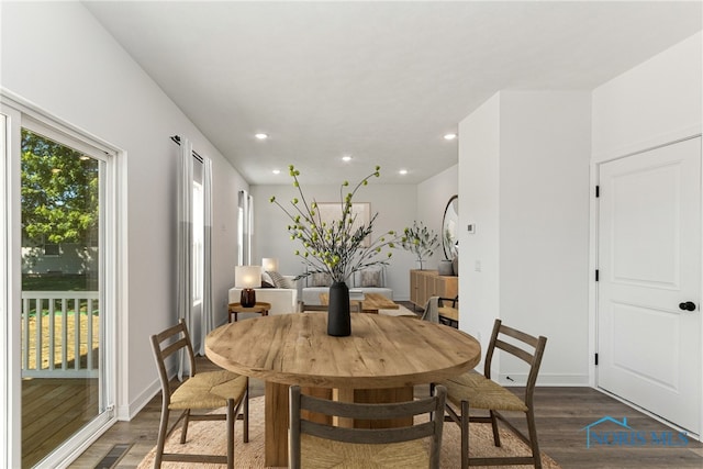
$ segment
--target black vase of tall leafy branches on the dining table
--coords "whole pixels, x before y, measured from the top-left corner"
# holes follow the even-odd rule
[[[344,181],[339,188],[339,215],[338,219],[325,221],[322,219],[317,202],[309,201],[300,187],[298,176],[300,171],[293,165],[289,166],[290,176],[293,178],[293,187],[299,197],[290,200],[290,205],[283,206],[270,198],[288,215],[292,224],[288,225],[291,239],[298,239],[302,249],[295,250],[308,267],[305,273],[297,279],[313,273],[326,273],[332,278],[330,287],[330,304],[327,317],[327,334],[333,336],[348,336],[352,334],[352,317],[349,314],[349,288],[346,281],[361,269],[376,265],[387,265],[392,252],[388,250],[381,256],[383,248],[393,248],[400,237],[395,232],[389,231],[383,236],[365,243],[373,232],[373,223],[378,213],[375,213],[368,223],[358,220],[353,212],[353,200],[357,190],[367,186],[372,177],[380,176],[380,167],[361,179],[353,190],[348,190],[348,181]],[[346,192],[346,194],[345,194]]]

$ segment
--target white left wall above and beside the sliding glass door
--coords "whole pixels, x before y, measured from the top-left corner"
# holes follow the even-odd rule
[[[156,390],[148,336],[176,321],[176,163],[169,136],[213,159],[215,306],[235,264],[236,194],[246,182],[79,2],[3,2],[2,87],[123,149],[129,284],[119,317],[118,411]],[[224,311],[217,311],[221,319]]]

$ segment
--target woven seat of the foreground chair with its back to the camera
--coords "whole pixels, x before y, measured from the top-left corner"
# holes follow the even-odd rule
[[[358,469],[364,468],[426,468],[429,465],[428,444],[401,442],[392,444],[349,444],[301,435],[302,467],[305,469]]]

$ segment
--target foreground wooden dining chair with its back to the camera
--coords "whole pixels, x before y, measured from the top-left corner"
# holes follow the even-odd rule
[[[433,395],[415,401],[367,404],[330,401],[302,394],[290,387],[289,467],[321,469],[332,467],[439,468],[443,409],[446,389],[437,386]],[[422,423],[397,428],[346,428],[332,426],[324,418],[306,420],[302,411],[330,417],[388,420],[429,415]],[[425,445],[423,438],[429,439]]]

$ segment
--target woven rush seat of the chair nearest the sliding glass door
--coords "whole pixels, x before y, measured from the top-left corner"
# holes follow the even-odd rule
[[[186,380],[171,394],[168,409],[217,409],[227,404],[227,399],[237,401],[247,387],[247,378],[231,371],[200,372]]]

